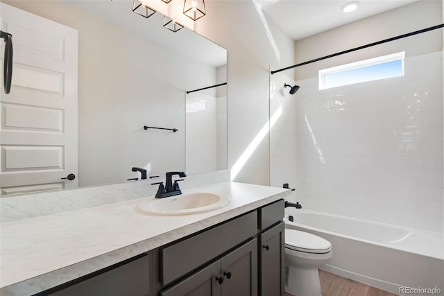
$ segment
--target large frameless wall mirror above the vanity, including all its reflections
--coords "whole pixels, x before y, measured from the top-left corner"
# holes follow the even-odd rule
[[[0,5],[14,42],[10,94],[0,89],[1,195],[135,182],[133,167],[148,178],[227,168],[227,86],[187,94],[226,82],[223,47],[169,31],[160,12],[137,15],[132,0]]]

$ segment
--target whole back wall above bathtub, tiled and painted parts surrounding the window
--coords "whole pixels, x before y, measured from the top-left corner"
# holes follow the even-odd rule
[[[441,23],[441,1],[420,1],[296,42],[298,62]],[[441,29],[298,69],[296,103],[282,114],[296,121],[295,200],[307,209],[443,231],[442,48]],[[407,56],[402,78],[318,90],[318,69],[398,51]],[[273,82],[283,79],[275,74]],[[271,139],[287,134],[282,126]],[[279,163],[271,159],[272,167]]]

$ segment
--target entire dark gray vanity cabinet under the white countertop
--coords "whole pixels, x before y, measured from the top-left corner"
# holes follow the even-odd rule
[[[282,296],[284,200],[39,295]]]

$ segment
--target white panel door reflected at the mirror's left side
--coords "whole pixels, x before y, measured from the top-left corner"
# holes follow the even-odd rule
[[[5,3],[0,28],[14,46],[10,94],[0,87],[1,194],[76,187],[62,178],[77,176],[78,33]]]

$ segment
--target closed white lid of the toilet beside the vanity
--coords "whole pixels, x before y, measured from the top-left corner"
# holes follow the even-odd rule
[[[332,250],[330,241],[296,229],[285,229],[285,247],[299,252],[318,254]]]

